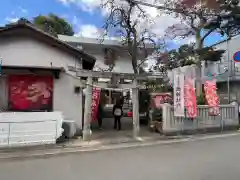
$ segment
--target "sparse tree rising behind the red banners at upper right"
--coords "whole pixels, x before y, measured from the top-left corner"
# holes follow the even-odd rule
[[[165,6],[169,13],[180,20],[179,24],[169,27],[166,34],[171,34],[171,38],[195,36],[198,51],[204,47],[204,40],[211,33],[220,32],[224,35],[229,34],[230,27],[231,30],[239,29],[239,23],[235,21],[238,9],[235,0],[167,0]],[[198,57],[198,95],[202,91],[201,60]]]

